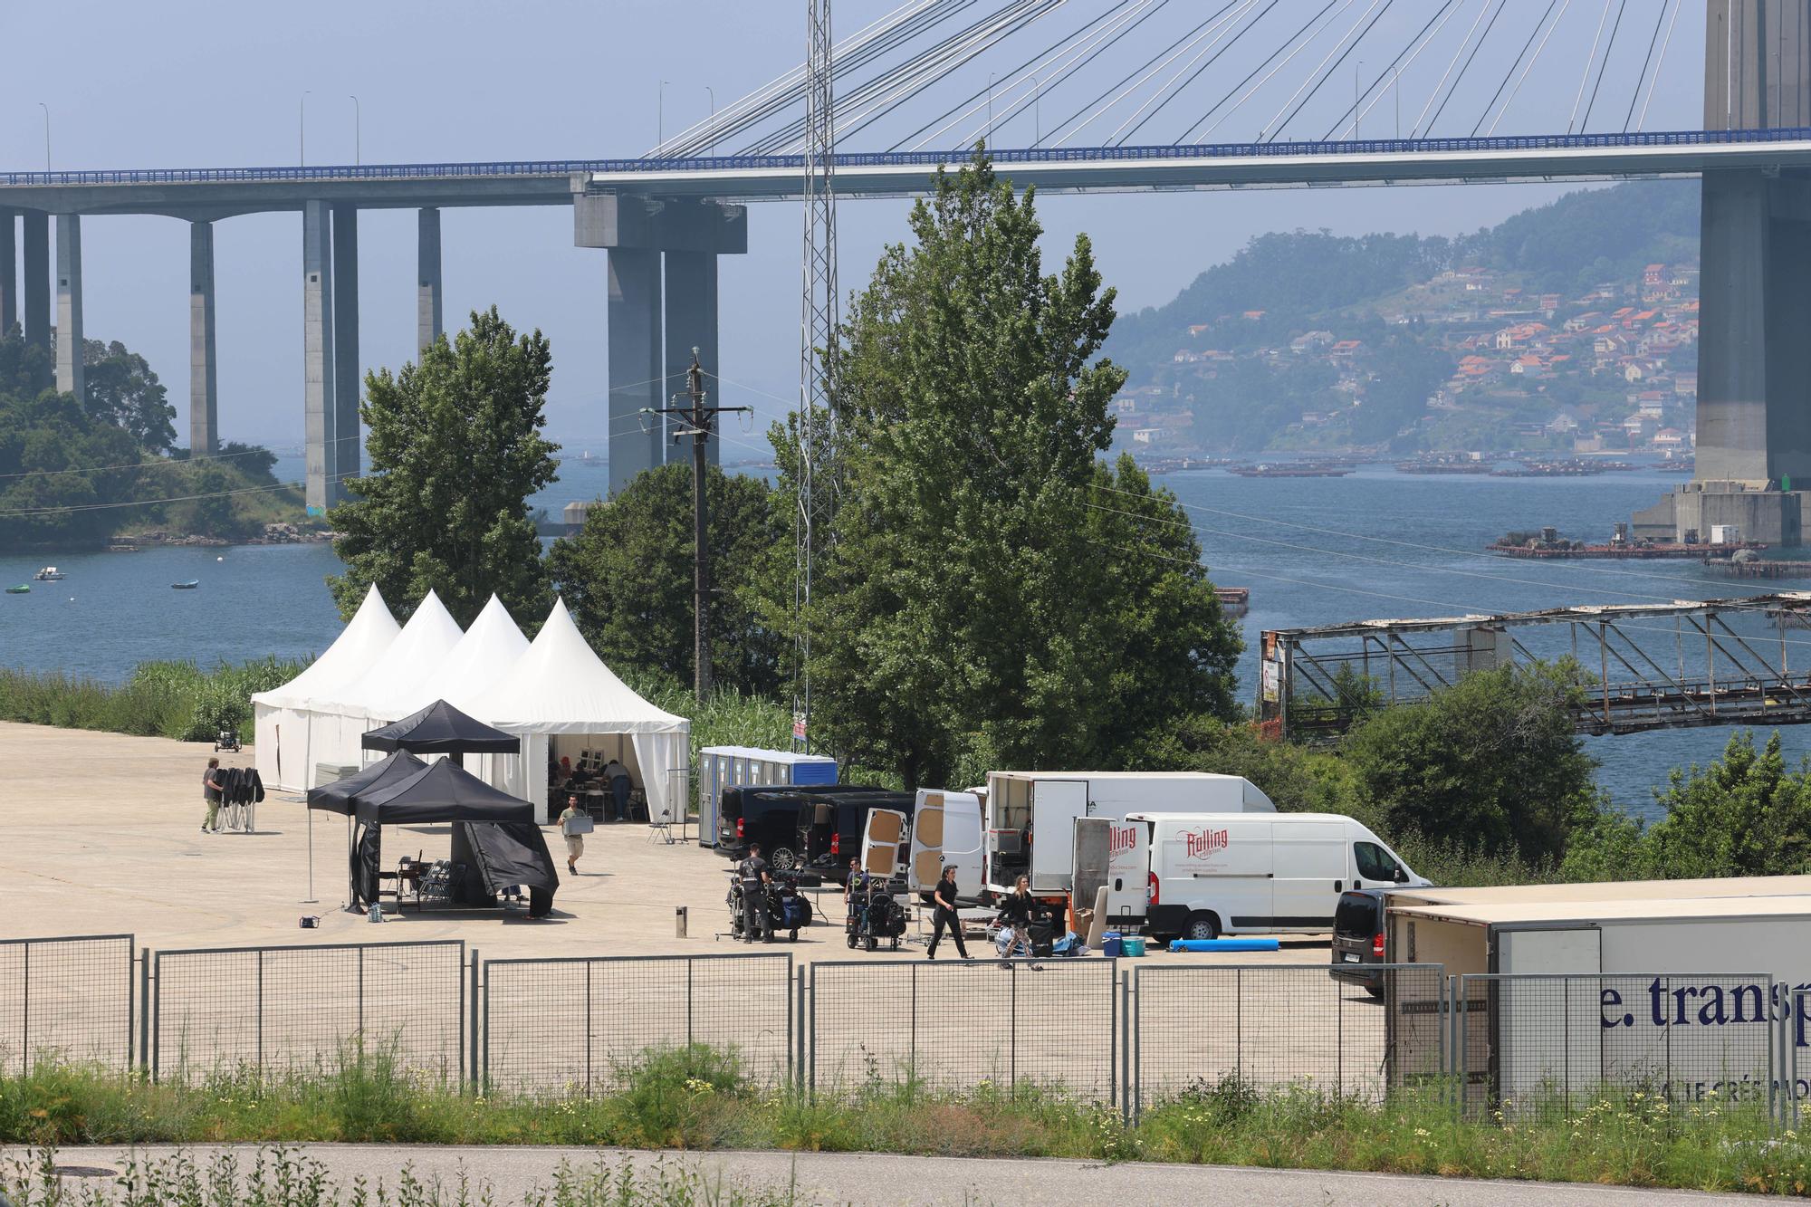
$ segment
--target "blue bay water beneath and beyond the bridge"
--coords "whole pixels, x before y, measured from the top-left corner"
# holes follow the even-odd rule
[[[279,466],[286,478],[297,473],[293,459]],[[1244,700],[1255,690],[1260,629],[1811,589],[1811,582],[1793,580],[1731,582],[1695,562],[1536,564],[1481,551],[1509,529],[1543,524],[1605,540],[1615,520],[1679,480],[1648,471],[1574,480],[1414,477],[1385,466],[1344,478],[1237,478],[1222,471],[1161,478],[1192,507],[1215,582],[1251,589],[1242,622]],[[558,517],[561,506],[594,498],[605,484],[601,462],[567,462],[563,478],[534,502]],[[339,564],[326,546],[0,556],[0,582],[24,582],[45,562],[69,578],[36,584],[27,596],[0,596],[0,665],[112,680],[147,658],[212,663],[321,651],[339,627],[324,584]],[[188,578],[199,578],[201,587],[170,589]],[[1804,652],[1811,660],[1811,645]],[[1811,754],[1811,730],[1784,736],[1795,759]],[[1670,767],[1708,761],[1726,739],[1728,730],[1672,730],[1592,739],[1590,748],[1603,761],[1605,787],[1639,808]]]

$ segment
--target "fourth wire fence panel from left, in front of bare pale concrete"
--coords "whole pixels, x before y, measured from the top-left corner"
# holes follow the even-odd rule
[[[811,964],[806,1080],[974,1089],[1038,1086],[1116,1102],[1116,961]]]

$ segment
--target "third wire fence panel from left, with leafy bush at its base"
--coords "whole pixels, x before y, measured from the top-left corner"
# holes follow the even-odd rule
[[[608,1093],[650,1051],[706,1044],[791,1080],[790,951],[484,961],[484,1084]]]

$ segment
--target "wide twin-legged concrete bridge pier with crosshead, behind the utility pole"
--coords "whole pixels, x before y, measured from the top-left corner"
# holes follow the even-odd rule
[[[717,256],[748,250],[748,210],[708,201],[578,194],[572,216],[578,246],[601,246],[608,254],[614,493],[666,460],[665,417],[643,417],[641,410],[666,406],[685,381],[692,348],[697,346],[704,370],[721,372]],[[715,384],[706,388],[715,390]]]

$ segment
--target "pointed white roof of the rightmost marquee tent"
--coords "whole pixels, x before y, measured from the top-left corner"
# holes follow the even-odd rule
[[[522,734],[677,734],[690,723],[656,709],[603,665],[554,600],[547,623],[480,716]]]

